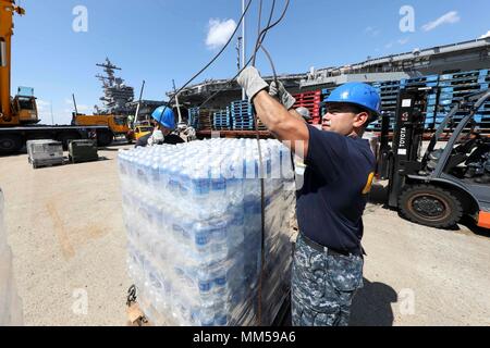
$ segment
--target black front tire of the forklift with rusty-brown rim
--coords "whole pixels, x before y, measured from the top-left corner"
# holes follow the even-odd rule
[[[400,213],[417,224],[449,228],[463,216],[461,201],[450,191],[431,185],[411,186],[399,199]]]

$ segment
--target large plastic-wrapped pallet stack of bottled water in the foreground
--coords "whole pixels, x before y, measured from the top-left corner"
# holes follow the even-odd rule
[[[152,323],[273,322],[289,293],[295,183],[290,150],[260,148],[211,139],[119,153],[128,272]]]

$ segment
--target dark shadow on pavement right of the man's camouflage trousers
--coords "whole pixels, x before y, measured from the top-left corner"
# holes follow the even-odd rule
[[[383,283],[364,279],[352,303],[351,326],[393,326],[392,303],[397,302],[396,291]]]

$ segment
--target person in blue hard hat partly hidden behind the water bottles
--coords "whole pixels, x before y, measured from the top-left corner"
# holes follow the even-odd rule
[[[138,141],[136,141],[136,147],[185,142],[180,136],[172,134],[175,129],[175,114],[172,109],[160,107],[154,111],[151,119],[155,126],[154,132],[140,137]]]

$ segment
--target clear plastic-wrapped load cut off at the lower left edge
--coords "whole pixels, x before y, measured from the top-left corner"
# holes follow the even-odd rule
[[[12,252],[7,245],[3,207],[0,188],[0,326],[19,326],[23,324],[22,302],[14,284]]]

